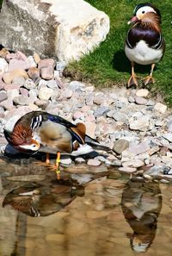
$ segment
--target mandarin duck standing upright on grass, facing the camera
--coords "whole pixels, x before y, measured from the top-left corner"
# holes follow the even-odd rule
[[[132,76],[127,86],[138,85],[134,63],[151,65],[150,75],[144,78],[144,85],[154,83],[152,73],[156,63],[163,58],[165,41],[162,36],[161,14],[151,3],[138,4],[128,24],[132,24],[126,35],[125,53],[132,62]]]

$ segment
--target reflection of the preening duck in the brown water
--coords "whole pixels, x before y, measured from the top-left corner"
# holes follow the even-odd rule
[[[26,215],[38,217],[52,215],[71,203],[77,196],[83,197],[84,188],[73,186],[69,180],[51,184],[28,183],[10,191],[3,200],[3,207],[11,205]]]

